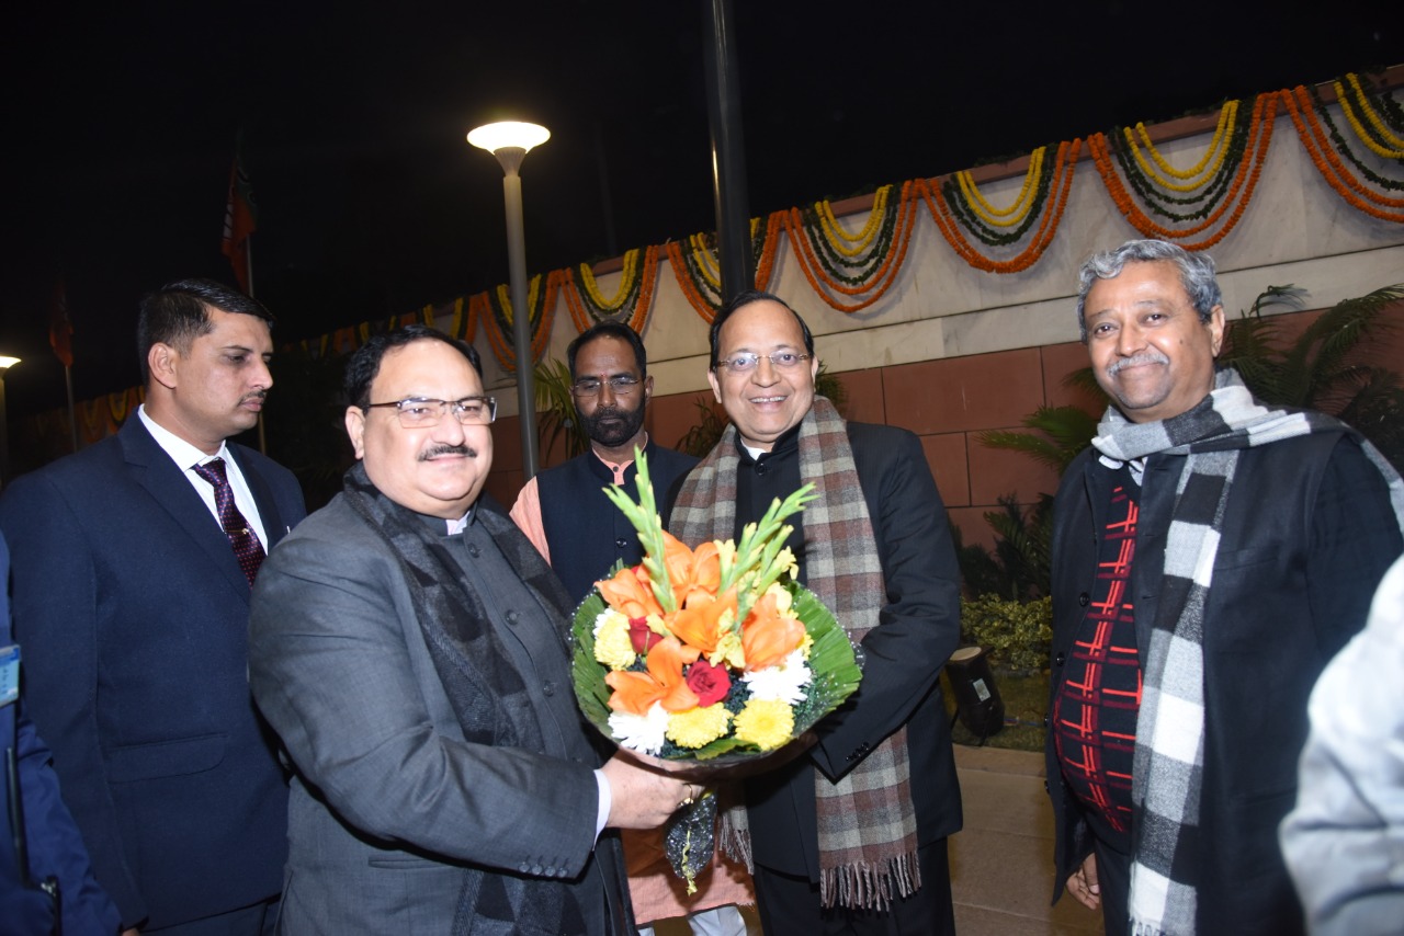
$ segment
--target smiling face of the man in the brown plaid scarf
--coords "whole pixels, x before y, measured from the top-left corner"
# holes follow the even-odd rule
[[[755,368],[731,373],[720,363],[741,351],[761,355]],[[814,375],[819,373],[817,358],[786,370],[775,368],[765,355],[776,351],[806,354],[799,320],[778,302],[753,302],[733,312],[722,326],[717,335],[719,363],[708,372],[712,392],[736,424],[741,442],[765,452],[809,413],[814,404]]]

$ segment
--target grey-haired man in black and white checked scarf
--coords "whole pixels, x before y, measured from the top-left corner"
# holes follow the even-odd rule
[[[1217,368],[1214,264],[1130,241],[1081,269],[1111,397],[1054,508],[1057,884],[1108,933],[1294,933],[1276,845],[1306,697],[1404,549],[1404,486],[1349,427]]]

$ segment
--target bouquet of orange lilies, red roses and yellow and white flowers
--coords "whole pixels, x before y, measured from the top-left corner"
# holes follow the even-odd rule
[[[616,744],[716,766],[785,747],[837,709],[862,676],[834,615],[795,582],[785,518],[814,498],[806,484],[748,523],[739,543],[695,550],[663,529],[646,456],[639,502],[605,494],[643,544],[576,610],[573,675],[585,717]],[[715,796],[674,817],[665,849],[692,885],[689,855],[712,853]],[[705,863],[703,863],[705,864]]]

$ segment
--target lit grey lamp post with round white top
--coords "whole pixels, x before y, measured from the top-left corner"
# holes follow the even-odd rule
[[[469,132],[468,142],[497,157],[503,167],[507,202],[507,264],[512,289],[512,345],[517,354],[517,404],[521,410],[522,474],[536,474],[536,385],[532,375],[531,321],[526,307],[526,239],[522,230],[522,180],[518,174],[526,150],[550,139],[536,123],[503,121]]]

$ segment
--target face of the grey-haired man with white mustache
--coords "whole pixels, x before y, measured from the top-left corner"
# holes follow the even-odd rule
[[[1175,264],[1126,264],[1092,285],[1085,309],[1097,383],[1132,422],[1177,417],[1213,390],[1224,310],[1200,321]]]

